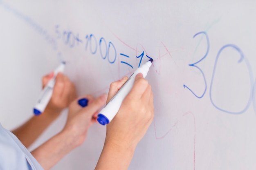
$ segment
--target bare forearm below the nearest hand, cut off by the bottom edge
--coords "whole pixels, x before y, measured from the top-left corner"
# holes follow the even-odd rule
[[[95,170],[127,170],[135,148],[105,144]]]

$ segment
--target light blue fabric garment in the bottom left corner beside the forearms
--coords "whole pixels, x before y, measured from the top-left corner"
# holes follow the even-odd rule
[[[19,139],[1,124],[0,170],[43,170]]]

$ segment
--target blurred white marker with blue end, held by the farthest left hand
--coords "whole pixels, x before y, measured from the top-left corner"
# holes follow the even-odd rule
[[[59,72],[63,72],[64,68],[65,68],[65,62],[62,62],[61,65],[59,65],[54,70],[54,75],[52,79],[50,79],[49,82],[46,84],[45,88],[43,88],[43,91],[40,93],[36,106],[34,107],[35,115],[40,115],[45,110],[45,107],[47,106],[47,104],[49,103],[52,97],[56,76]]]

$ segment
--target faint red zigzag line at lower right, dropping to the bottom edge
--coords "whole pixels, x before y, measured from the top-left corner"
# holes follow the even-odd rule
[[[194,154],[193,154],[193,170],[195,170],[195,116],[192,112],[186,112],[185,114],[182,115],[182,118],[184,118],[185,116],[187,115],[192,115],[193,117],[193,122],[194,122]],[[155,128],[155,139],[163,139],[164,137],[166,137],[166,135],[171,132],[171,130],[178,124],[179,120],[177,120],[175,122],[175,124],[173,124],[173,126],[171,126],[171,128],[162,136],[162,137],[157,137],[157,134],[156,134],[156,126],[155,126],[155,120],[154,120],[154,128]]]

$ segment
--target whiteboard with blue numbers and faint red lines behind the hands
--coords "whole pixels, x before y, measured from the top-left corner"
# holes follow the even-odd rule
[[[66,61],[79,95],[154,59],[155,117],[129,170],[256,168],[256,2],[0,0],[0,122],[32,116],[41,77]],[[63,111],[33,150],[60,131]],[[106,126],[53,170],[94,169]]]

